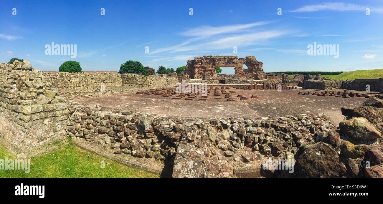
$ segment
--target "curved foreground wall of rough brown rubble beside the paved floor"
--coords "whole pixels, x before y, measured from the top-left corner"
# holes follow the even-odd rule
[[[68,120],[69,137],[85,139],[115,155],[170,166],[173,177],[234,177],[236,168],[245,167],[259,172],[254,162],[260,154],[294,155],[298,147],[312,143],[314,135],[334,127],[322,114],[246,120],[181,118],[82,104],[70,104]],[[319,130],[321,126],[329,129]],[[185,150],[191,153],[194,148],[205,154],[184,157]],[[197,163],[205,160],[199,166],[201,171],[188,169],[195,168],[188,167],[190,159]]]

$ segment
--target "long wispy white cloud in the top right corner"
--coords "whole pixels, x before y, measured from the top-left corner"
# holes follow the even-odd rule
[[[371,8],[367,6],[357,5],[354,3],[343,2],[326,2],[313,5],[307,5],[289,12],[313,12],[313,11],[365,11],[370,8],[371,11],[382,12],[382,8]]]

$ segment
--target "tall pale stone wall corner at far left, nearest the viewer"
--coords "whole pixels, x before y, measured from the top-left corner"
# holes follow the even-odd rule
[[[62,140],[69,113],[52,84],[28,61],[0,64],[0,140],[23,157]]]

